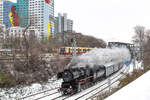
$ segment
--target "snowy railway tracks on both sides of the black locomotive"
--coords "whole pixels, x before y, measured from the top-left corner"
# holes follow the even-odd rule
[[[110,76],[110,80],[111,80],[111,84],[114,84],[116,83],[120,78],[123,77],[122,74],[120,74],[120,72],[125,72],[127,70],[127,68],[124,67],[124,69],[120,70],[119,72],[117,72],[116,74],[114,74],[113,76]],[[100,84],[99,86],[95,86],[95,85],[98,85]],[[58,92],[58,89],[59,87],[57,88],[54,88],[54,89],[51,89],[51,90],[46,90],[46,91],[42,91],[42,92],[39,92],[39,93],[36,93],[36,94],[33,94],[33,95],[30,95],[30,96],[27,96],[27,97],[24,97],[24,98],[21,98],[19,100],[45,100],[45,98],[49,98],[50,100],[90,100],[90,98],[93,98],[95,97],[97,94],[99,94],[100,92],[104,91],[105,89],[107,89],[109,86],[108,86],[108,81],[107,79],[103,80],[103,81],[100,81],[98,82],[97,84],[95,84],[95,88],[92,89],[92,90],[84,90],[82,91],[83,93],[79,92],[75,95],[70,95],[70,96],[62,96],[61,93]],[[93,87],[93,86],[92,86]],[[51,92],[53,91],[53,92]],[[47,93],[48,92],[48,93]],[[46,95],[42,95],[42,96],[39,96],[43,93],[47,93]],[[81,93],[81,95],[80,95]],[[37,96],[35,98],[35,96]],[[78,96],[79,95],[79,96]],[[72,96],[76,96],[75,98],[72,98]],[[34,99],[29,99],[30,97],[34,97]],[[47,99],[46,99],[47,100]]]

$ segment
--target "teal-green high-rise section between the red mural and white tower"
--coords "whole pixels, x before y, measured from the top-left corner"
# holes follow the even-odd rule
[[[16,12],[18,13],[19,26],[21,27],[27,27],[29,25],[28,5],[29,0],[17,0]]]

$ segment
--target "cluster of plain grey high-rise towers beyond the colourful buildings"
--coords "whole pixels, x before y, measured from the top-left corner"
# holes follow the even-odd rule
[[[73,30],[73,20],[67,19],[67,14],[61,15],[58,13],[58,17],[55,17],[55,33],[62,33],[64,31]]]

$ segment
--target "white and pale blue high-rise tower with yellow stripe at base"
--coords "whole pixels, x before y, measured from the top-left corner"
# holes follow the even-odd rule
[[[29,17],[42,40],[54,36],[54,0],[29,0]]]

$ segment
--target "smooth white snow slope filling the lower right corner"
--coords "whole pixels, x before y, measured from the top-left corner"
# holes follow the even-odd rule
[[[150,100],[150,71],[105,100]]]

